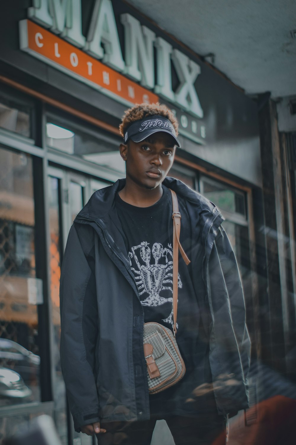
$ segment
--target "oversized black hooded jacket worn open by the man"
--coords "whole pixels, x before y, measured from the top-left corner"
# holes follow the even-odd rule
[[[75,429],[95,421],[150,417],[144,315],[130,270],[114,197],[123,179],[96,191],[71,227],[60,281],[61,362]],[[219,210],[174,178],[191,222],[186,253],[201,318],[219,413],[248,406],[250,340],[236,259]],[[195,237],[197,225],[201,236]],[[183,246],[185,247],[185,246]],[[198,259],[198,261],[197,261]],[[209,321],[210,320],[210,321]]]

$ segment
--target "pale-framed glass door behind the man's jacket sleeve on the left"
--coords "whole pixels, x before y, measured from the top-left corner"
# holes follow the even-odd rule
[[[65,384],[59,359],[60,316],[59,279],[66,247],[67,236],[76,214],[82,209],[91,194],[108,185],[106,182],[88,178],[81,174],[48,168],[47,195],[49,202],[49,252],[51,291],[51,336],[52,374],[55,399],[55,424],[63,445],[92,445],[93,438],[76,433],[70,413],[67,410]],[[69,427],[70,425],[70,427]],[[69,429],[69,431],[68,431]],[[68,437],[69,435],[69,437]]]

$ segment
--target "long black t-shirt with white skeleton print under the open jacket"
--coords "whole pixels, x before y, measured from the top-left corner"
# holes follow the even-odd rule
[[[173,327],[173,219],[170,190],[162,186],[162,197],[153,206],[132,206],[116,195],[115,207],[124,233],[130,267],[137,283],[144,310],[144,321]],[[191,225],[185,201],[178,197],[181,212],[182,247],[190,258]],[[187,248],[186,248],[187,247]],[[201,265],[198,271],[201,273]],[[185,376],[178,384],[150,395],[150,412],[194,415],[199,411],[216,410],[210,390],[208,341],[201,324],[197,296],[192,285],[191,263],[178,260],[178,332],[177,343],[185,363]],[[193,391],[209,384],[209,392]],[[205,394],[204,394],[205,392]]]

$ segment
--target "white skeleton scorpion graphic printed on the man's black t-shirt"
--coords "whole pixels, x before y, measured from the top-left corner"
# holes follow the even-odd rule
[[[151,258],[151,252],[153,259]],[[173,251],[172,245],[163,247],[160,243],[154,243],[152,249],[149,243],[142,241],[138,246],[131,248],[128,254],[130,267],[134,273],[139,296],[143,295],[141,303],[143,306],[159,306],[171,302],[172,309],[165,323],[174,324],[173,321]],[[178,274],[178,287],[182,287],[180,275]],[[165,298],[161,293],[170,291],[171,296]],[[178,324],[177,324],[178,327]]]

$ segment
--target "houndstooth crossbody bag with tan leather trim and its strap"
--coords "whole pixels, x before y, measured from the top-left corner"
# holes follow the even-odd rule
[[[145,323],[143,348],[147,364],[147,379],[150,394],[156,394],[178,383],[185,374],[185,364],[180,354],[177,341],[177,304],[178,304],[178,251],[180,250],[185,263],[190,263],[182,249],[179,236],[181,214],[178,200],[171,190],[173,201],[173,332],[159,323]]]

